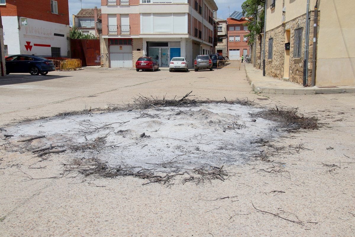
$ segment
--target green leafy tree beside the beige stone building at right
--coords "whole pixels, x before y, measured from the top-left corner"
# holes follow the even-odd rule
[[[250,31],[247,35],[249,44],[254,43],[254,36],[260,34],[264,27],[264,6],[265,0],[246,0],[242,3],[243,15],[253,19],[245,24]]]

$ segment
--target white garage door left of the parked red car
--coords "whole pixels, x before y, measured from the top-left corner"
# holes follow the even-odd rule
[[[110,68],[132,68],[132,45],[110,45]]]

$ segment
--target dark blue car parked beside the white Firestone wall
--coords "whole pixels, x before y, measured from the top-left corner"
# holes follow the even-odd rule
[[[35,55],[18,54],[5,59],[6,74],[29,72],[31,75],[47,75],[49,71],[55,71],[52,60]]]

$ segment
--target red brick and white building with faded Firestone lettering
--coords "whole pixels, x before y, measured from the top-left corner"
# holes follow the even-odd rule
[[[5,52],[67,57],[68,0],[2,1]],[[35,10],[31,10],[34,9]]]

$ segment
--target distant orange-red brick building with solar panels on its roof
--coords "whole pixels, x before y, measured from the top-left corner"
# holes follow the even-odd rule
[[[227,54],[230,60],[240,59],[242,55],[249,55],[247,34],[250,33],[247,26],[248,21],[244,17],[240,20],[227,18]]]

